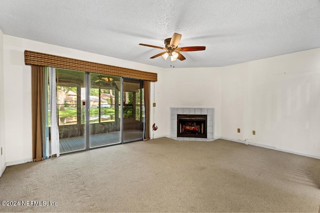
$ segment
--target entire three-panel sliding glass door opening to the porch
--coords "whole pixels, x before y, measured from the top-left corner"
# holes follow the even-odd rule
[[[56,105],[50,107],[57,109],[60,154],[142,139],[143,80],[66,69],[55,73]]]

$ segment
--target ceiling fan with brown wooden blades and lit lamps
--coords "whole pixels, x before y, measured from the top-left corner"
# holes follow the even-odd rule
[[[171,38],[164,39],[164,47],[153,46],[153,45],[143,44],[143,43],[139,43],[139,45],[165,50],[164,52],[160,52],[159,54],[153,55],[150,58],[156,58],[161,55],[162,58],[166,60],[166,58],[170,56],[171,58],[170,61],[175,61],[176,59],[183,61],[185,57],[180,52],[205,50],[205,46],[178,47],[180,39],[181,39],[181,34],[173,33]]]

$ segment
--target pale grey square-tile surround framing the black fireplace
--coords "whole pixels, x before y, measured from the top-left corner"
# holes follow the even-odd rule
[[[181,115],[207,115],[207,140],[213,140],[214,130],[214,108],[188,108],[188,107],[170,107],[170,138],[176,137],[176,119],[177,114]],[[200,138],[197,140],[201,140]]]

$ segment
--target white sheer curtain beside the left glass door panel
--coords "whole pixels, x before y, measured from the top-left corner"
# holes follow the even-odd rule
[[[50,94],[50,119],[51,119],[51,156],[59,157],[59,130],[57,122],[56,108],[56,83],[55,83],[55,67],[49,67],[49,94]]]

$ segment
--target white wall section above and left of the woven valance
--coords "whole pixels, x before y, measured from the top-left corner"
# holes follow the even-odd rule
[[[3,35],[5,63],[4,75],[1,79],[4,82],[5,116],[3,122],[5,123],[4,141],[7,165],[32,159],[31,67],[24,65],[25,49],[142,71],[159,72],[161,70],[154,66]]]

